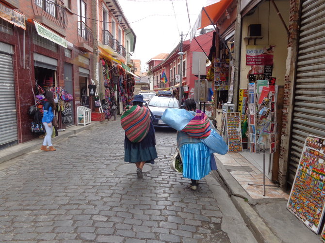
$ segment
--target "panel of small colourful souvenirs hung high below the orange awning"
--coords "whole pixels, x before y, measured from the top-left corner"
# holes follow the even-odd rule
[[[214,59],[214,89],[216,91],[228,90],[229,61]]]

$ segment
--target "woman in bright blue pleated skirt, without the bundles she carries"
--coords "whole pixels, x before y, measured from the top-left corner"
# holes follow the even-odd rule
[[[195,100],[192,98],[185,100],[185,109],[195,115]],[[200,138],[191,137],[185,132],[177,133],[177,145],[183,162],[183,177],[191,179],[189,188],[196,190],[198,180],[211,171],[209,148]]]

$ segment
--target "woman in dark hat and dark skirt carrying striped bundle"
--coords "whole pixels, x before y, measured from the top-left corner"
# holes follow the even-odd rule
[[[134,163],[138,178],[143,178],[142,169],[146,163],[154,164],[156,151],[155,129],[147,107],[143,107],[143,95],[135,95],[133,106],[121,115],[121,125],[125,131],[124,161]]]

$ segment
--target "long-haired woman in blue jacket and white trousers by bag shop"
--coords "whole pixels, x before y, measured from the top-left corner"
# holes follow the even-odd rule
[[[55,110],[55,101],[54,94],[52,91],[45,92],[45,99],[43,101],[43,118],[42,123],[46,131],[46,135],[44,137],[43,145],[41,146],[41,150],[43,151],[56,151],[52,145],[52,121],[54,118],[53,111]],[[47,147],[49,146],[49,148]]]

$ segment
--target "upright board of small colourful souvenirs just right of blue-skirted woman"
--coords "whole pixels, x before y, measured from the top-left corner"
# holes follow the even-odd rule
[[[227,112],[228,152],[242,152],[242,126],[240,112]]]

